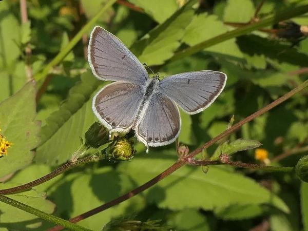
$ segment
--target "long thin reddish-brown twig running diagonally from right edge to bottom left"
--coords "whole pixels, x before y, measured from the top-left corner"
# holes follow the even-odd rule
[[[195,157],[199,152],[201,152],[204,148],[207,148],[211,145],[213,145],[214,143],[216,143],[217,141],[221,140],[222,138],[228,136],[228,134],[234,132],[235,130],[239,129],[243,124],[252,121],[253,119],[259,117],[261,114],[267,112],[268,110],[271,110],[273,107],[281,104],[282,102],[284,102],[285,100],[291,98],[294,94],[296,94],[297,92],[301,91],[303,88],[308,86],[308,80],[303,82],[302,84],[300,84],[298,87],[294,88],[293,90],[291,90],[290,92],[284,94],[282,97],[278,98],[277,100],[275,100],[273,103],[265,106],[264,108],[258,110],[257,112],[249,115],[248,117],[246,117],[244,120],[240,121],[239,123],[235,124],[234,126],[228,128],[227,130],[225,130],[224,132],[220,133],[217,137],[215,137],[214,139],[210,140],[209,142],[207,142],[206,144],[204,144],[202,147],[195,149],[194,151],[190,152],[189,155],[187,155],[186,157],[184,157],[184,159],[189,159],[189,158],[193,158]],[[124,194],[121,197],[118,197],[112,201],[109,201],[101,206],[98,206],[96,208],[93,208],[89,211],[87,211],[84,214],[81,214],[79,216],[76,216],[74,218],[69,219],[70,222],[78,222],[81,221],[85,218],[88,218],[90,216],[93,216],[95,214],[100,213],[101,211],[106,210],[107,208],[110,208],[114,205],[120,204],[123,201],[128,200],[129,198],[136,196],[137,194],[139,194],[140,192],[148,189],[149,187],[155,185],[156,183],[158,183],[159,181],[163,180],[165,177],[169,176],[170,174],[172,174],[172,172],[176,171],[177,169],[179,169],[180,167],[182,167],[183,165],[185,165],[185,160],[179,160],[178,162],[176,162],[175,164],[173,164],[172,166],[170,166],[169,168],[167,168],[165,171],[163,171],[161,174],[159,174],[158,176],[156,176],[155,178],[149,180],[148,182],[146,182],[145,184],[131,190],[130,192],[128,192],[127,194]],[[50,229],[48,229],[48,231],[56,231],[56,230],[62,230],[63,227],[61,226],[54,226]]]

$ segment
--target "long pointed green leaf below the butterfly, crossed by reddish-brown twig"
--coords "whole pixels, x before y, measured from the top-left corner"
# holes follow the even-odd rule
[[[129,163],[121,163],[118,170],[140,185],[161,174],[177,158],[174,151],[150,154]],[[160,208],[172,210],[213,210],[232,204],[271,204],[288,211],[288,207],[280,198],[254,180],[215,166],[210,166],[207,174],[203,174],[201,169],[195,166],[183,166],[148,189],[145,195],[149,203],[156,203]]]

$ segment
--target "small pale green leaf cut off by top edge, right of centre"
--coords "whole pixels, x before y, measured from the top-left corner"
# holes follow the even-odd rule
[[[248,23],[255,13],[251,0],[228,0],[224,9],[224,22]]]

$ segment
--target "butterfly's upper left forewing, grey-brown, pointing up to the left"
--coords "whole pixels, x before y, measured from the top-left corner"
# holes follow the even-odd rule
[[[144,85],[148,73],[128,48],[110,32],[96,26],[90,36],[88,61],[100,80],[126,81]]]

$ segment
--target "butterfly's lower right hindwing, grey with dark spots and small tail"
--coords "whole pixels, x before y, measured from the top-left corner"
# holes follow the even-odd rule
[[[165,95],[152,96],[136,135],[145,146],[170,144],[179,136],[181,117],[177,105]]]

